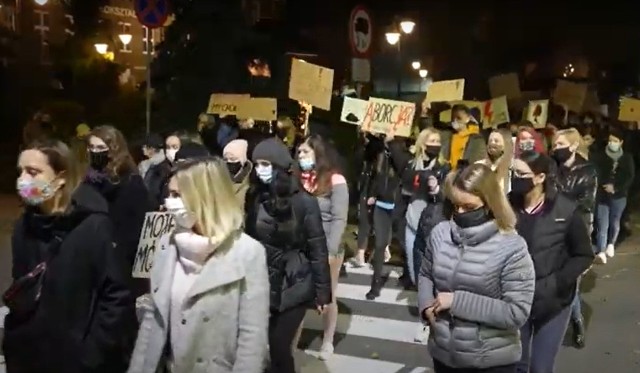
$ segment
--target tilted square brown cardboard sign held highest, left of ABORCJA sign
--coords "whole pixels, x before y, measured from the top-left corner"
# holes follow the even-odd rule
[[[311,106],[331,110],[333,69],[314,65],[297,58],[291,63],[289,98]]]

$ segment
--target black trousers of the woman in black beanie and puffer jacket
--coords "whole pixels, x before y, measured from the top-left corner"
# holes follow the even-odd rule
[[[307,309],[304,306],[290,308],[283,312],[272,313],[269,317],[269,355],[271,368],[269,373],[296,373],[291,344]]]

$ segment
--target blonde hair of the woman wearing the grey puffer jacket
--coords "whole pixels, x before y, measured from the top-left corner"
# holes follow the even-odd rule
[[[491,211],[501,231],[511,232],[515,229],[516,214],[490,167],[474,163],[462,171],[452,172],[447,176],[444,188],[447,198],[454,205],[460,204],[460,192],[473,194]]]

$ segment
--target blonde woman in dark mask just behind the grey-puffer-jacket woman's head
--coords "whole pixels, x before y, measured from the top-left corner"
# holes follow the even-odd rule
[[[485,166],[489,166],[498,177],[498,183],[505,193],[510,190],[510,169],[513,160],[513,140],[508,130],[493,130],[489,134],[487,143],[487,157],[479,160]]]

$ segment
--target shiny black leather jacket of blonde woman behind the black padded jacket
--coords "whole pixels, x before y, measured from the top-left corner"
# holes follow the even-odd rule
[[[571,167],[559,166],[556,171],[556,187],[576,202],[583,217],[585,214],[594,213],[598,173],[591,162],[576,154],[576,160]]]

